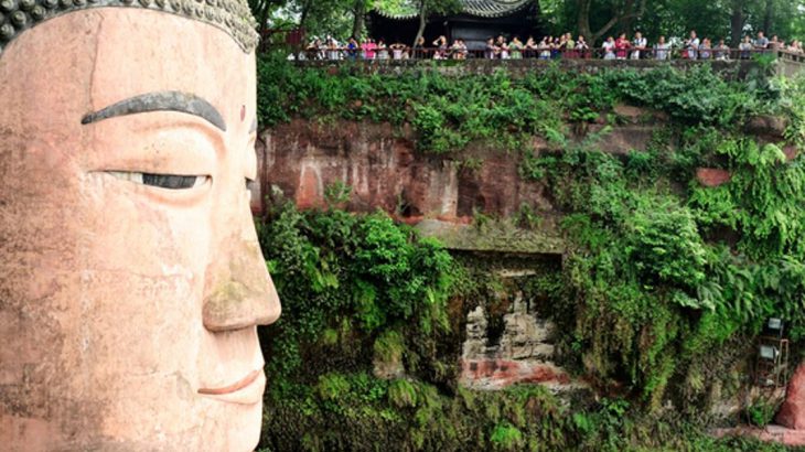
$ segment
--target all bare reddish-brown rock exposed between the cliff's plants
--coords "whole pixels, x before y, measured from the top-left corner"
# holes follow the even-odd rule
[[[616,126],[608,128],[595,142],[597,149],[612,154],[646,150],[655,132],[667,126],[667,118],[646,109],[618,106],[613,114]],[[602,130],[601,125],[588,125],[570,134],[568,146]],[[773,118],[758,118],[745,127],[745,132],[759,142],[784,141],[784,130],[785,125]],[[537,153],[561,152],[539,138],[534,138],[529,147]],[[794,147],[783,150],[788,160],[796,157]],[[280,193],[300,208],[325,206],[329,187],[343,184],[351,189],[350,201],[343,205],[347,211],[383,209],[401,222],[418,225],[423,235],[442,239],[454,251],[492,254],[502,262],[496,271],[509,283],[493,297],[495,300],[477,300],[462,312],[459,385],[502,389],[518,383],[539,383],[555,392],[588,389],[582,379],[561,366],[561,351],[555,346],[556,325],[517,289],[517,281],[527,275],[518,273],[522,269],[515,265],[507,266],[507,256],[561,262],[565,252],[557,228],[562,214],[544,183],[520,175],[522,152],[473,142],[458,157],[428,155],[416,150],[416,136],[408,128],[301,119],[264,131],[257,152],[260,184],[253,196],[255,212],[262,211],[265,203]],[[732,175],[722,169],[699,168],[695,176],[701,186],[718,187],[729,183]],[[539,217],[533,230],[470,226],[477,223],[474,219],[480,214],[505,219],[524,209]],[[743,366],[751,359],[739,359],[733,370],[747,372]],[[399,369],[375,370],[376,375],[399,375]],[[797,388],[790,392],[796,396]],[[711,413],[721,419],[737,419],[748,400],[741,400],[738,394],[712,398]],[[801,411],[793,402],[786,405],[786,410],[796,416]]]

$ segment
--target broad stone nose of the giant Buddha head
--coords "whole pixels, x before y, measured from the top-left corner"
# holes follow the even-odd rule
[[[205,277],[204,326],[212,332],[273,323],[281,308],[257,241],[251,215],[221,241]]]

